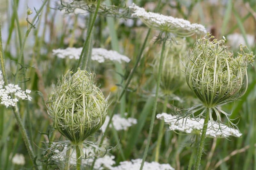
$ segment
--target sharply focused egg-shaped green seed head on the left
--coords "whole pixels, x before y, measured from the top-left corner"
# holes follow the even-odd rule
[[[94,74],[68,70],[58,82],[48,113],[53,126],[73,144],[81,144],[105,122],[107,100],[94,85]]]

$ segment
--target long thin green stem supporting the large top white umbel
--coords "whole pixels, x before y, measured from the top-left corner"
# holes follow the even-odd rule
[[[150,144],[150,141],[151,141],[154,121],[155,121],[155,117],[156,117],[158,91],[159,91],[160,79],[161,79],[161,74],[162,74],[162,70],[163,70],[163,62],[164,62],[165,42],[166,42],[166,37],[164,38],[163,45],[162,45],[162,50],[161,50],[160,63],[159,63],[159,67],[158,67],[158,75],[157,75],[157,81],[156,81],[156,96],[155,96],[155,101],[154,101],[153,113],[152,113],[152,116],[151,116],[151,122],[150,122],[150,126],[149,126],[148,140],[147,140],[146,148],[145,148],[145,151],[144,151],[144,154],[143,154],[140,170],[142,170],[142,168],[144,166],[144,162],[145,162],[146,157],[148,155],[148,148],[149,148],[149,144]]]

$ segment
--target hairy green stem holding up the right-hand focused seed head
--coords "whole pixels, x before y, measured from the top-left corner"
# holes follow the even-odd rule
[[[201,157],[202,157],[202,152],[203,152],[203,148],[204,148],[204,140],[205,140],[205,136],[206,136],[206,130],[207,130],[208,122],[209,122],[211,109],[212,108],[206,109],[205,119],[204,119],[204,126],[203,126],[203,130],[202,130],[202,134],[201,134],[199,147],[198,147],[198,150],[197,150],[196,163],[195,163],[194,170],[199,170],[200,161],[201,161]]]

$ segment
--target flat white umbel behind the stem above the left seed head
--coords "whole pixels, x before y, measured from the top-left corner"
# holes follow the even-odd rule
[[[54,49],[52,50],[53,55],[56,55],[59,58],[76,59],[78,60],[80,54],[82,52],[82,48],[66,48],[66,49]],[[106,50],[104,48],[92,48],[92,60],[97,61],[99,63],[105,62],[105,60],[117,61],[121,63],[122,61],[129,63],[130,58],[125,55],[121,55],[113,50]]]

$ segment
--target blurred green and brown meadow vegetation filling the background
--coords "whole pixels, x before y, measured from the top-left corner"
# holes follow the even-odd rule
[[[33,151],[37,159],[44,163],[45,158],[41,148],[42,142],[46,140],[45,134],[51,132],[50,137],[53,140],[64,139],[58,132],[52,130],[52,120],[48,116],[45,103],[49,101],[53,92],[52,87],[56,86],[58,78],[68,69],[74,69],[77,64],[77,60],[74,59],[58,58],[52,54],[52,50],[82,47],[88,15],[64,14],[56,9],[57,0],[48,0],[36,18],[35,26],[28,34],[22,61],[18,62],[17,56],[22,48],[20,44],[27,36],[26,32],[30,26],[27,20],[31,22],[36,15],[35,10],[40,8],[42,2],[41,0],[0,0],[0,18],[8,80],[10,83],[14,82],[16,76],[22,89],[32,91],[32,101],[20,101],[18,107]],[[157,0],[134,0],[133,2],[150,11],[153,11],[157,4]],[[113,0],[111,3],[119,4],[120,2]],[[126,4],[131,3],[132,0],[126,2]],[[33,13],[27,16],[28,8]],[[255,9],[254,0],[162,0],[159,12],[187,19],[191,23],[202,24],[218,39],[225,36],[234,54],[239,50],[236,44],[240,42],[245,43],[244,45],[256,54]],[[96,83],[104,96],[109,95],[108,113],[113,112],[116,96],[122,90],[122,84],[136,62],[136,56],[140,52],[147,31],[148,28],[139,19],[124,20],[98,15],[95,21],[92,32],[93,47],[116,50],[131,59],[130,63],[92,63],[90,66],[90,69],[96,73]],[[234,39],[234,33],[240,34],[240,38]],[[161,50],[161,45],[154,43],[156,35],[158,32],[152,30],[138,69],[132,77],[123,100],[117,104],[118,109],[115,110],[115,113],[124,117],[136,118],[137,124],[127,130],[109,130],[104,134],[108,138],[108,144],[116,146],[110,152],[115,156],[117,165],[120,161],[142,158],[145,149],[156,86],[156,79],[152,74],[153,65],[155,58],[160,56]],[[186,38],[186,41],[189,55],[189,49],[193,47],[196,35]],[[16,72],[18,74],[15,74]],[[202,168],[220,170],[256,168],[255,62],[253,66],[250,64],[248,67],[248,77],[248,90],[245,95],[240,100],[222,107],[227,113],[232,112],[231,118],[238,117],[237,126],[243,134],[242,137],[206,138],[201,161]],[[163,112],[164,100],[164,96],[160,94],[157,114]],[[172,105],[189,108],[198,103],[199,101],[184,82],[184,85],[168,97],[166,113],[172,114]],[[155,160],[160,122],[156,119],[154,123],[146,159],[148,162]],[[167,125],[166,129],[168,129]],[[101,132],[98,131],[91,139],[97,140],[96,137],[100,135]],[[164,131],[158,162],[169,163],[176,170],[187,169],[193,152],[194,138],[193,135],[181,132]],[[13,164],[12,158],[16,153],[24,155],[25,165]],[[7,109],[3,105],[0,105],[0,160],[0,169],[32,167],[32,161],[29,159],[12,109]]]

